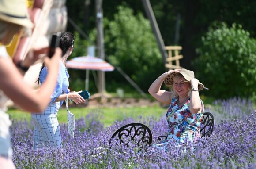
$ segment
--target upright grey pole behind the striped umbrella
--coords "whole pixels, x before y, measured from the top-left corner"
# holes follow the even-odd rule
[[[104,34],[103,34],[103,10],[102,1],[96,0],[96,26],[97,26],[97,50],[98,57],[105,59],[104,56]],[[98,92],[105,93],[105,72],[98,71],[99,86]]]

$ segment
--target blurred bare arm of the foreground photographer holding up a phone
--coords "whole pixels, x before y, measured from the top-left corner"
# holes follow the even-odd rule
[[[49,75],[38,90],[24,83],[23,76],[10,59],[0,58],[0,90],[25,111],[43,111],[55,88],[61,53],[61,49],[57,48],[53,58],[45,57]]]

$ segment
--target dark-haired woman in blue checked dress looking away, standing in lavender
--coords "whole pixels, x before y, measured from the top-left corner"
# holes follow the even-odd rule
[[[61,147],[61,135],[60,135],[60,125],[57,119],[57,113],[66,100],[66,95],[68,99],[71,99],[76,104],[84,103],[85,100],[79,95],[80,92],[70,92],[68,90],[68,71],[65,67],[67,58],[71,55],[74,50],[74,40],[75,36],[70,32],[61,32],[60,36],[60,48],[62,49],[62,58],[60,61],[60,70],[57,78],[56,88],[51,96],[51,101],[47,108],[38,113],[32,113],[31,117],[34,121],[34,149],[47,146],[51,147]],[[47,76],[47,67],[42,65],[41,71],[39,72],[38,85],[45,83],[45,78]]]

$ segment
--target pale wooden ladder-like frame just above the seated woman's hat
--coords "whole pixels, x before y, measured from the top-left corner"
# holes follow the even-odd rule
[[[168,46],[165,47],[165,49],[168,51],[168,58],[166,58],[166,68],[169,68],[169,70],[182,68],[180,66],[179,59],[182,59],[183,56],[179,55],[179,50],[182,49],[181,46]],[[174,56],[173,56],[173,50],[174,50]],[[173,61],[175,61],[175,65],[173,65]]]

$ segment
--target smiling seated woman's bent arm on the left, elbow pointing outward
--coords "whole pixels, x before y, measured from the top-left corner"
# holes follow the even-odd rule
[[[148,92],[153,96],[156,100],[165,103],[170,104],[173,92],[168,92],[166,90],[161,90],[162,83],[164,81],[164,78],[169,75],[171,72],[176,72],[176,70],[170,70],[168,72],[163,73],[161,76],[159,76],[149,87]]]

